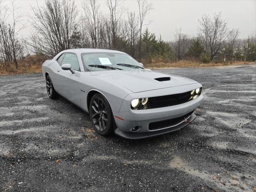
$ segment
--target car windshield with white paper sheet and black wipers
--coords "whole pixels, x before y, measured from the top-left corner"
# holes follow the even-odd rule
[[[83,53],[82,62],[90,71],[144,69],[134,58],[122,53]]]

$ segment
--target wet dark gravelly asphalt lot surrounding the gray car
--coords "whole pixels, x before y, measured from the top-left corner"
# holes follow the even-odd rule
[[[186,128],[137,141],[98,135],[42,74],[0,76],[0,192],[256,190],[256,64],[156,71],[200,82],[204,101]]]

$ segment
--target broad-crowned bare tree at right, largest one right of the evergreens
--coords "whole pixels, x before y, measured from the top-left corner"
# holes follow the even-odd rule
[[[223,46],[227,35],[227,22],[221,18],[221,13],[213,17],[204,14],[199,22],[199,36],[205,42],[206,51],[210,52],[213,60]]]

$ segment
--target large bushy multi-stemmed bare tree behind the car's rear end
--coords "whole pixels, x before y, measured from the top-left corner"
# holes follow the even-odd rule
[[[31,45],[35,52],[54,56],[72,47],[71,38],[77,30],[78,14],[74,1],[46,0],[44,6],[37,5],[32,10],[31,24],[36,36]]]

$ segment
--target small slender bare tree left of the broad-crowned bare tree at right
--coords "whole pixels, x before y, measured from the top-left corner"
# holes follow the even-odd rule
[[[184,58],[186,51],[188,50],[189,40],[186,34],[182,33],[181,28],[176,29],[174,33],[173,49],[178,58],[181,60]]]

